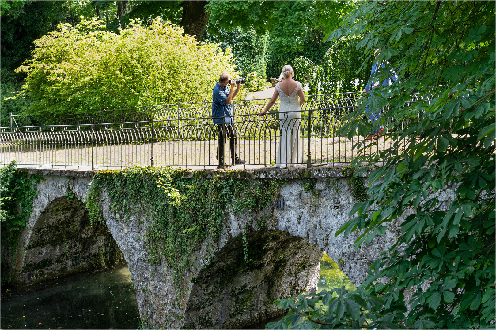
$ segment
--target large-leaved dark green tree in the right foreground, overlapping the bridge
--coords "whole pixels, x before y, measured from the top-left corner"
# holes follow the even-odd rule
[[[329,39],[354,34],[363,38],[357,47],[366,48],[364,67],[380,48],[378,60],[390,65],[379,75],[394,68],[399,81],[374,89],[345,118],[342,133],[366,136],[372,125],[362,119],[365,108],[384,109],[392,143],[374,154],[365,150],[370,142],[356,144],[355,167],[383,166],[371,174],[370,200],[355,204],[336,236],[358,230],[358,247],[404,219],[401,233],[356,291],[281,300],[290,312],[267,328],[492,328],[495,3],[366,2]],[[405,104],[412,93],[419,101]],[[406,290],[413,291],[408,313]]]

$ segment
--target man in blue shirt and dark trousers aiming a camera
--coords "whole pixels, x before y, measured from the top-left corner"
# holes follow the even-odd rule
[[[231,85],[231,89],[227,87],[228,85]],[[226,144],[227,137],[229,137],[229,142],[231,145],[232,164],[245,164],[245,161],[240,159],[236,153],[238,136],[236,135],[236,130],[233,123],[233,108],[231,106],[231,101],[240,91],[240,84],[238,84],[236,91],[234,91],[235,85],[236,83],[231,81],[231,76],[229,73],[222,72],[212,93],[212,120],[214,124],[217,124],[217,136],[219,137],[216,157],[219,161],[219,165],[217,168],[224,168],[224,145]]]

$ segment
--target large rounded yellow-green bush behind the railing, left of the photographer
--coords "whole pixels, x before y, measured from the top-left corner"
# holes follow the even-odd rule
[[[31,113],[211,101],[221,72],[238,75],[230,48],[198,43],[158,20],[146,26],[131,20],[119,34],[102,30],[95,19],[65,23],[34,44],[33,59],[16,69],[27,74]]]

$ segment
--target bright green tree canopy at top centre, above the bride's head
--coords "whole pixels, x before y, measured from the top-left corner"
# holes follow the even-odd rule
[[[255,30],[267,38],[266,73],[276,77],[297,55],[320,63],[330,45],[325,33],[338,27],[341,16],[356,7],[353,1],[211,1],[210,21],[230,31]]]

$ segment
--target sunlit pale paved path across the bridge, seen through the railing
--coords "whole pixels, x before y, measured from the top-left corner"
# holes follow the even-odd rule
[[[363,139],[363,138],[360,138]],[[362,140],[361,140],[362,141]],[[356,149],[352,146],[358,142],[346,138],[310,139],[310,155],[313,164],[349,163],[356,157]],[[367,142],[368,152],[377,152],[389,148],[391,141],[383,138]],[[239,140],[238,153],[247,161],[249,168],[271,166],[275,163],[279,140]],[[231,159],[229,141],[226,143],[226,159]],[[309,150],[308,140],[300,140],[303,150],[302,164],[307,163]],[[205,141],[166,141],[153,143],[153,165],[214,168],[216,161],[217,140]],[[41,152],[40,152],[41,151]],[[118,144],[51,144],[38,149],[36,143],[1,146],[1,164],[12,160],[21,166],[53,168],[78,167],[86,168],[121,168],[135,165],[150,165],[152,155],[151,143]]]

